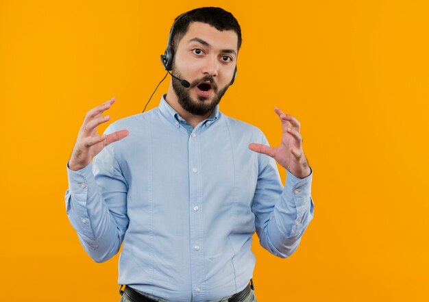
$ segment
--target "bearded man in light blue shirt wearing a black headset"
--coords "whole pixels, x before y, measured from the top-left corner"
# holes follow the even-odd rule
[[[255,231],[262,247],[288,257],[312,219],[312,171],[296,118],[275,108],[282,142],[268,147],[258,128],[219,112],[240,46],[229,12],[186,12],[162,55],[173,78],[158,108],[112,123],[103,136],[97,126],[115,99],[86,114],[67,168],[66,211],[96,262],[123,243],[123,302],[256,301]]]

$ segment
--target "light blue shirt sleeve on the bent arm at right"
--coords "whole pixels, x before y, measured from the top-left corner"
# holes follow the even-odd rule
[[[268,144],[264,136],[263,144]],[[258,182],[252,203],[260,244],[273,255],[289,257],[312,220],[311,172],[299,179],[286,170],[282,185],[275,160],[258,154]]]

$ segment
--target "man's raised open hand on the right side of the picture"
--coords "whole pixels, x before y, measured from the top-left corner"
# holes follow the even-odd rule
[[[278,147],[269,147],[264,144],[249,144],[249,149],[274,158],[280,166],[288,169],[293,175],[304,178],[310,175],[311,170],[302,149],[302,136],[299,134],[300,124],[290,114],[274,108],[282,122],[282,142]]]

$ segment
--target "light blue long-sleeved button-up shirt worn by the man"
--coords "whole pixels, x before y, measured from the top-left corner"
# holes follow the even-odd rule
[[[187,124],[187,125],[186,125]],[[313,216],[312,174],[286,171],[249,149],[262,131],[219,112],[194,129],[162,97],[112,123],[128,129],[79,171],[68,169],[66,212],[96,262],[116,253],[119,284],[169,301],[210,301],[247,286],[252,236],[287,257]]]

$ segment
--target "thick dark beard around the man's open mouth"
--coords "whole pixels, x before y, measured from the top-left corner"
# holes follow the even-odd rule
[[[177,71],[177,68],[175,67],[175,64],[173,63],[173,75],[175,77],[178,77],[179,79],[183,79],[182,75]],[[215,97],[212,99],[210,103],[206,102],[205,97],[198,97],[198,100],[195,101],[194,99],[191,99],[191,96],[189,95],[189,89],[194,88],[198,84],[201,83],[201,81],[210,81],[212,83],[212,89],[215,93]],[[184,110],[187,112],[194,114],[194,115],[206,115],[209,112],[212,112],[216,106],[221,101],[223,95],[225,95],[226,90],[228,90],[229,85],[225,86],[221,90],[218,91],[217,85],[215,84],[215,79],[211,76],[203,77],[201,79],[197,79],[191,83],[191,86],[189,88],[184,88],[180,81],[178,79],[172,78],[173,83],[173,90],[175,94],[177,95],[177,99],[182,106]]]

